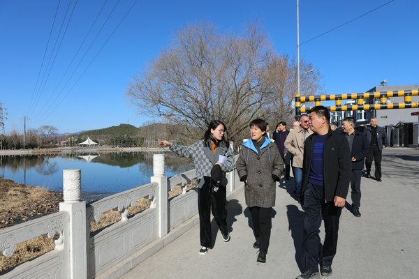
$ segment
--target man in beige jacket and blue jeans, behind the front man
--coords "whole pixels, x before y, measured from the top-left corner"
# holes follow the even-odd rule
[[[309,128],[309,116],[304,114],[300,117],[300,127],[297,127],[288,134],[284,142],[285,148],[293,154],[293,174],[295,179],[295,195],[300,200],[302,188],[302,159],[304,153],[304,141],[313,132]]]

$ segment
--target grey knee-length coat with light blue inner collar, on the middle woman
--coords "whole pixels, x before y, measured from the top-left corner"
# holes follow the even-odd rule
[[[272,179],[272,174],[281,178],[284,162],[274,143],[265,137],[265,143],[258,153],[251,140],[244,142],[236,169],[240,180],[247,178],[244,186],[247,206],[275,206],[276,183]]]

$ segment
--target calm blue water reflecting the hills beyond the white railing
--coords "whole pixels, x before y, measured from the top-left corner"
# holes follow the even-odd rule
[[[166,176],[193,169],[189,158],[165,153]],[[0,156],[0,177],[17,183],[62,191],[63,169],[82,169],[82,192],[93,199],[150,182],[152,152],[80,153]]]

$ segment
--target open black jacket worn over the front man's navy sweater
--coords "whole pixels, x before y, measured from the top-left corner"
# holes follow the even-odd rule
[[[302,195],[307,190],[311,159],[313,158],[316,134],[307,137],[304,142],[304,160],[302,163]],[[323,146],[323,179],[325,200],[332,202],[335,196],[346,199],[349,182],[351,181],[351,152],[346,137],[341,133],[332,133],[329,129],[328,137]]]

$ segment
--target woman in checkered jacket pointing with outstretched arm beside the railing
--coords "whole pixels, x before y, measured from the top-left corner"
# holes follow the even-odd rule
[[[234,154],[225,133],[224,123],[213,120],[203,140],[198,140],[191,146],[172,144],[167,140],[159,142],[160,146],[170,146],[171,151],[179,156],[189,157],[195,163],[198,177],[200,255],[205,255],[212,248],[211,211],[223,241],[230,241],[226,221],[226,172],[234,169]]]

